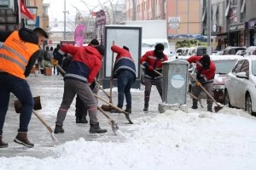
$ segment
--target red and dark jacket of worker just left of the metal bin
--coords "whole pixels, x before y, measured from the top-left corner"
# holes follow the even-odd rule
[[[157,61],[156,61],[157,59]],[[156,65],[154,67],[154,70],[159,71],[162,73],[163,65],[162,62],[168,60],[166,54],[164,54],[163,58],[158,59],[156,55],[154,54],[154,50],[146,52],[146,54],[143,54],[142,58],[140,59],[140,64],[145,66],[145,77],[151,78],[151,79],[158,79],[161,78],[161,76],[154,71],[149,71],[148,66],[151,65],[154,67],[154,63],[156,61]]]

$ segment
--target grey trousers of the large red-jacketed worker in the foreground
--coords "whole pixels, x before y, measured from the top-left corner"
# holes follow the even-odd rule
[[[92,93],[88,82],[80,82],[77,80],[66,79],[64,83],[64,94],[61,102],[61,107],[57,114],[56,125],[62,126],[66,118],[67,111],[73,102],[75,95],[83,101],[84,107],[89,113],[90,124],[96,124],[98,122],[97,113],[97,101]]]

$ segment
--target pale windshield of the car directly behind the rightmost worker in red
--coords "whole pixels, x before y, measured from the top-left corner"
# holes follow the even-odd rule
[[[228,74],[231,71],[231,69],[233,68],[233,66],[236,64],[236,59],[214,60],[213,62],[216,65],[216,71],[215,71],[216,74]]]

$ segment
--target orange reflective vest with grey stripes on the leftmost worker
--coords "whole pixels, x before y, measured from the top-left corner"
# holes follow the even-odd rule
[[[19,31],[14,31],[0,48],[0,71],[25,79],[28,60],[38,49],[37,44],[22,41]]]

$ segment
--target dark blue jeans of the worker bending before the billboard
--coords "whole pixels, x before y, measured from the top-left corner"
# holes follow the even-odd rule
[[[126,108],[131,108],[131,85],[134,83],[135,75],[131,71],[120,71],[118,75],[118,107],[124,105],[124,94],[126,99]]]

